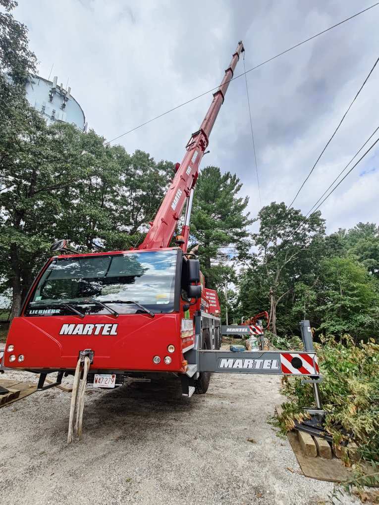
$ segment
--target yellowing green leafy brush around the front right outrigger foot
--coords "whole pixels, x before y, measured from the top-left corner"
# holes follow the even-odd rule
[[[315,347],[326,429],[336,444],[351,438],[362,459],[379,462],[379,345],[373,339],[355,345],[345,335],[342,342],[331,336]],[[303,409],[314,405],[313,389],[302,386],[297,377],[285,377],[282,384],[290,401],[283,403],[279,423],[282,430],[289,430],[294,419],[305,418]]]

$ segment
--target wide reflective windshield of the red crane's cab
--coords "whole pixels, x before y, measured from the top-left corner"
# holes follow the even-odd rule
[[[25,315],[66,315],[73,307],[84,314],[109,314],[104,304],[119,314],[144,308],[172,312],[176,258],[177,250],[166,250],[55,260],[42,275]]]

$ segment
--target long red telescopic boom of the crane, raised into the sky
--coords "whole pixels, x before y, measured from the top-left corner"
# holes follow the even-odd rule
[[[186,251],[193,190],[199,175],[199,165],[203,158],[204,151],[208,146],[209,135],[224,101],[226,90],[233,77],[234,69],[242,52],[244,52],[244,45],[242,41],[240,41],[232,56],[229,67],[225,70],[225,75],[219,88],[213,93],[212,104],[208,109],[200,129],[192,134],[191,139],[189,139],[185,146],[186,152],[175,177],[170,184],[154,221],[150,223],[151,227],[145,240],[139,245],[138,249],[167,247],[175,231],[185,201],[187,201],[184,226],[182,228],[184,243],[181,246],[183,251]]]

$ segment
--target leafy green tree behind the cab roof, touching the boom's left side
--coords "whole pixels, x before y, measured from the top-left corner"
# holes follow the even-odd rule
[[[109,147],[94,131],[75,129],[71,134],[78,139],[86,170],[65,189],[63,200],[69,206],[60,216],[59,236],[73,240],[80,251],[93,248],[94,239],[101,239],[105,250],[135,246],[155,215],[173,164],[156,163],[140,150],[129,155],[120,145]]]

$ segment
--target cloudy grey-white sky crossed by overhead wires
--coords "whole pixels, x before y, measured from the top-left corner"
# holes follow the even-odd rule
[[[19,0],[39,74],[64,84],[112,139],[216,86],[236,43],[249,69],[373,0]],[[379,56],[379,6],[248,74],[262,204],[291,202]],[[235,75],[243,72],[240,61]],[[295,207],[306,213],[379,125],[379,64]],[[180,161],[207,95],[118,140]],[[377,138],[377,135],[374,139]],[[370,144],[368,144],[370,145]],[[376,146],[375,146],[376,147]],[[236,172],[259,211],[245,78],[230,83],[203,166]],[[322,206],[327,231],[379,222],[379,143]]]

